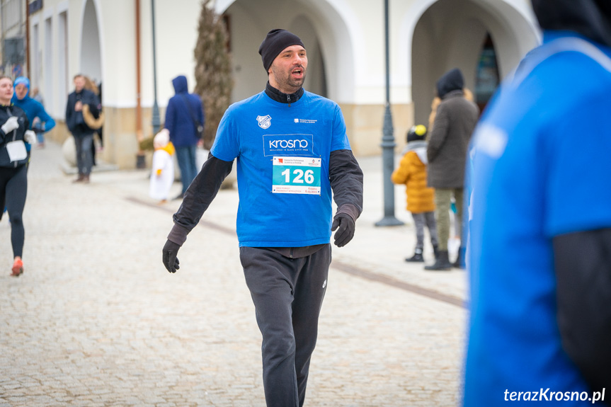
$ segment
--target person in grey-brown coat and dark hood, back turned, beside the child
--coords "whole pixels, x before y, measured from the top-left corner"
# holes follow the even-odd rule
[[[435,188],[435,219],[439,240],[435,264],[426,270],[450,270],[452,263],[447,255],[447,239],[450,237],[450,201],[456,205],[456,230],[462,231],[462,190],[464,166],[467,161],[469,139],[479,117],[479,109],[464,98],[462,72],[455,68],[447,71],[437,81],[437,96],[441,103],[437,108],[428,148],[428,186]],[[465,242],[461,241],[461,246]],[[459,250],[459,256],[462,250]],[[455,266],[459,267],[461,259]]]

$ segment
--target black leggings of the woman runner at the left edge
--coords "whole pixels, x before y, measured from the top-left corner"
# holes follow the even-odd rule
[[[28,165],[23,164],[17,168],[0,167],[0,211],[4,208],[11,221],[11,243],[13,244],[13,257],[23,254],[23,207],[25,196],[28,195]],[[2,219],[2,213],[0,213]]]

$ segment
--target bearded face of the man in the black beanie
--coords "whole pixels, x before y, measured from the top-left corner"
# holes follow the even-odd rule
[[[306,69],[305,48],[301,45],[286,47],[269,69],[270,85],[283,93],[295,93],[304,84]]]

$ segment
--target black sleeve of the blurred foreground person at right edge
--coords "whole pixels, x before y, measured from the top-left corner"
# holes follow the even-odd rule
[[[554,238],[562,346],[592,391],[611,386],[611,229]]]

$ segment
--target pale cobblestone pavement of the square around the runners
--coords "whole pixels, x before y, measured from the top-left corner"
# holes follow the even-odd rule
[[[464,271],[404,263],[414,243],[404,192],[396,216],[408,223],[375,227],[382,165],[359,161],[365,211],[355,239],[333,248],[306,406],[455,406]],[[61,162],[56,144],[33,151],[21,277],[9,277],[0,222],[0,407],[265,406],[236,190],[219,192],[170,275],[161,247],[180,202],[156,205],[146,170],[75,185]]]

